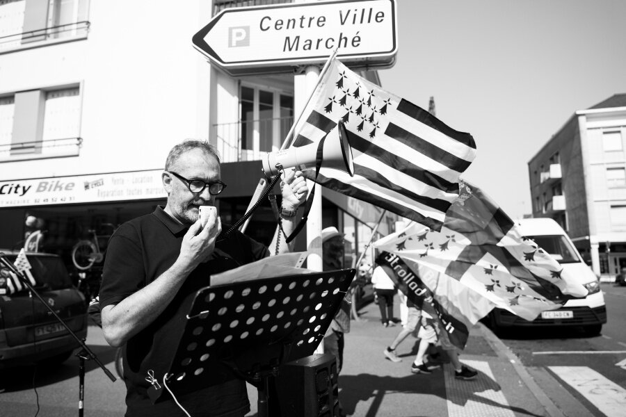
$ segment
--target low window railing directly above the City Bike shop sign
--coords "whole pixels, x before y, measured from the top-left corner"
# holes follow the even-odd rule
[[[0,144],[0,163],[78,156],[83,138],[39,140]]]

